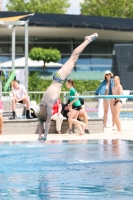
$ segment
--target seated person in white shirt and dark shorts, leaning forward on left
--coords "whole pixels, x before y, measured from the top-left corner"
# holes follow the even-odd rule
[[[16,112],[15,112],[16,103],[25,104],[26,105],[26,118],[32,119],[33,117],[30,116],[30,100],[28,98],[25,86],[19,84],[16,80],[14,80],[11,83],[11,87],[12,87],[12,93],[13,93],[13,98],[12,98],[12,114],[13,114],[13,116],[10,117],[10,119],[16,118]]]

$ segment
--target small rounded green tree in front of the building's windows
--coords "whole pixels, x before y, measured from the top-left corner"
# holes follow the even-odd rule
[[[58,62],[59,59],[61,58],[61,53],[57,49],[43,49],[40,47],[35,47],[32,48],[31,51],[29,52],[29,58],[31,60],[37,60],[40,61],[42,60],[44,62],[44,67],[45,63],[49,62]]]

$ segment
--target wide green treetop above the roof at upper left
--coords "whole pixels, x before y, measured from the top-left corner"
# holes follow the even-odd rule
[[[8,11],[64,14],[70,7],[69,0],[9,0]]]

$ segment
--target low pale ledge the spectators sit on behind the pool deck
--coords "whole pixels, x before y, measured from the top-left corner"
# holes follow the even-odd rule
[[[89,119],[90,133],[103,133],[103,119]],[[51,121],[49,134],[55,133],[55,121]],[[62,133],[68,131],[68,121],[64,120],[62,124]],[[74,127],[74,132],[77,130]],[[38,134],[38,119],[4,119],[3,134]]]

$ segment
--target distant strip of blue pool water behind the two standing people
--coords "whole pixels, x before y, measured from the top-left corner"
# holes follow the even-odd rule
[[[88,116],[90,118],[98,118],[98,112],[87,112]],[[121,111],[120,112],[120,118],[124,119],[132,119],[133,118],[133,112],[126,112],[126,111]]]

